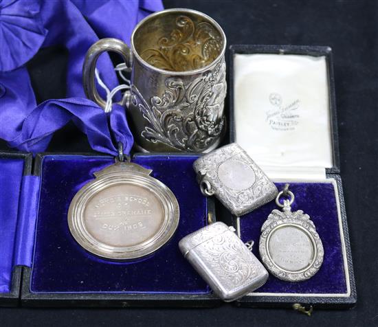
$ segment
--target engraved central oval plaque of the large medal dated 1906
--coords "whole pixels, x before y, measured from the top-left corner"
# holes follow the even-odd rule
[[[127,194],[122,185],[113,185],[92,196],[83,220],[94,238],[118,247],[144,242],[159,230],[163,221],[158,199],[137,185],[128,185]]]

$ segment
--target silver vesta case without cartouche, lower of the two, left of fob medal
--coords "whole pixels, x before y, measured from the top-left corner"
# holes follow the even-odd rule
[[[179,248],[194,269],[225,302],[263,286],[268,278],[252,251],[233,227],[217,222],[189,234]]]

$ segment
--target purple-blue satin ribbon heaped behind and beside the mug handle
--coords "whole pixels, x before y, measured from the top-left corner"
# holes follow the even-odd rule
[[[54,131],[74,120],[94,150],[115,155],[113,137],[129,153],[133,136],[124,110],[114,104],[107,117],[97,104],[85,99],[82,63],[98,36],[129,43],[135,24],[162,8],[161,0],[0,1],[0,137],[14,148],[37,153],[47,148]],[[24,65],[40,47],[52,45],[64,45],[69,52],[68,98],[36,106]],[[107,54],[100,56],[97,68],[113,89],[118,80]],[[99,92],[104,96],[102,89]]]

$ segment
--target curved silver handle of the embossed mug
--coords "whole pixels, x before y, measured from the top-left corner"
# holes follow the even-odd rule
[[[82,65],[82,85],[87,98],[96,102],[102,109],[105,108],[107,102],[101,98],[96,89],[95,69],[100,54],[108,51],[120,54],[126,63],[126,67],[131,69],[131,49],[118,38],[102,38],[88,49]]]

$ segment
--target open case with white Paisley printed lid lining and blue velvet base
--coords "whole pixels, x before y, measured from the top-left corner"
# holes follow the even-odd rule
[[[269,275],[238,306],[350,307],[355,280],[337,138],[335,84],[329,47],[232,45],[230,140],[240,144],[282,190],[295,195],[293,211],[309,214],[324,247],[322,267],[303,282]],[[242,240],[254,240],[274,201],[233,217]]]

